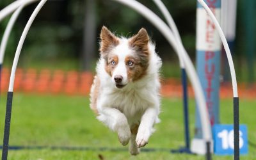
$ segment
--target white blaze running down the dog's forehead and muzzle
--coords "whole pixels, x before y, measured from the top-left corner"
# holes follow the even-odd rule
[[[113,54],[118,56],[118,64],[115,67],[115,70],[113,72],[112,75],[112,81],[113,83],[115,82],[115,77],[116,76],[122,76],[122,85],[125,85],[128,83],[128,76],[127,76],[127,67],[126,67],[126,63],[125,63],[125,58],[132,54],[131,49],[129,49],[129,44],[127,40],[122,40],[121,43],[116,46],[113,49]]]

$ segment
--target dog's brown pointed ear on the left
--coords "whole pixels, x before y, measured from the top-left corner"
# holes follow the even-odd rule
[[[111,31],[108,30],[105,26],[102,27],[100,32],[100,53],[106,54],[108,52],[108,49],[110,47],[114,47],[119,44],[118,38],[111,33]]]

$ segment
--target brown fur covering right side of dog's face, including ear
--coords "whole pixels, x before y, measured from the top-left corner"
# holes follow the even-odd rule
[[[148,51],[149,36],[146,29],[141,28],[137,35],[129,39],[129,45],[134,50],[134,67],[127,68],[128,77],[132,81],[137,81],[147,74],[149,51]],[[125,58],[125,62],[131,57]]]

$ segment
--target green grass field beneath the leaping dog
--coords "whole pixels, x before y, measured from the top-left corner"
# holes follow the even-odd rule
[[[12,126],[10,145],[46,146],[43,149],[10,150],[9,159],[188,159],[199,160],[204,156],[170,154],[168,151],[141,152],[130,156],[122,150],[115,133],[109,131],[95,119],[89,109],[88,97],[67,95],[13,95]],[[0,141],[3,141],[3,124],[6,95],[1,97]],[[241,100],[241,124],[248,125],[248,139],[256,142],[256,100]],[[195,120],[195,102],[190,100],[191,132]],[[162,101],[161,123],[156,125],[145,148],[179,148],[183,145],[182,102],[180,99]],[[221,122],[232,123],[232,99],[221,100]],[[111,147],[122,151],[109,150],[52,150],[50,147]],[[49,147],[49,148],[47,148]],[[256,159],[256,149],[249,147],[249,154],[241,159]],[[233,159],[232,156],[214,156],[213,159]]]

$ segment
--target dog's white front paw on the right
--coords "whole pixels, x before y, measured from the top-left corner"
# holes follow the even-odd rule
[[[138,148],[144,147],[148,143],[148,138],[150,136],[150,131],[147,129],[139,129],[136,136],[136,145]]]

